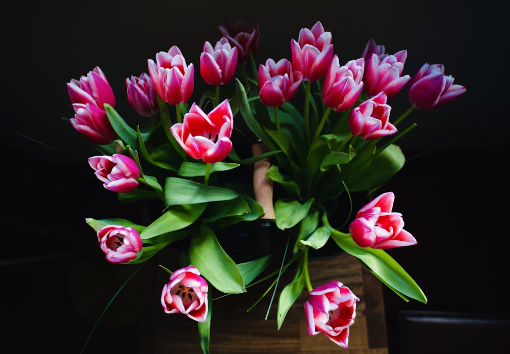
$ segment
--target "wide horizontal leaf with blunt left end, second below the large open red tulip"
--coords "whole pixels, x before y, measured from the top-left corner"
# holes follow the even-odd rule
[[[207,203],[238,196],[232,189],[207,186],[182,178],[168,177],[165,183],[165,205]]]

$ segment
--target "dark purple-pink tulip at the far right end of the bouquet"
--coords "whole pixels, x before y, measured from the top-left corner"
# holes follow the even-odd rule
[[[421,110],[439,107],[466,92],[461,85],[454,85],[451,75],[444,74],[443,64],[423,64],[409,82],[409,101]]]

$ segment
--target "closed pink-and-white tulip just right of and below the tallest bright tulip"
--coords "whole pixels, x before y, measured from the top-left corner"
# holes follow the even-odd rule
[[[349,60],[340,66],[338,56],[335,55],[322,84],[322,99],[327,107],[335,112],[349,110],[358,100],[363,90],[363,72],[365,60]]]

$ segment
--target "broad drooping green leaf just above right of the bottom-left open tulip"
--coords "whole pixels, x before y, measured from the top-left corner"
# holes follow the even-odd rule
[[[200,224],[199,232],[191,236],[189,257],[191,264],[219,291],[226,294],[246,292],[239,269],[206,224]]]

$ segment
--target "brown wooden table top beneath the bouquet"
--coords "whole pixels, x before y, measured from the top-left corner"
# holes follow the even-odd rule
[[[309,264],[312,285],[319,286],[332,280],[342,282],[360,297],[356,319],[350,327],[349,349],[331,342],[325,335],[309,336],[303,304],[308,294],[303,291],[289,310],[285,322],[277,330],[277,298],[269,317],[264,319],[270,295],[246,313],[246,309],[267,289],[268,283],[249,288],[246,294],[230,295],[212,302],[210,350],[223,353],[329,353],[387,354],[386,327],[381,284],[361,263],[348,254],[327,260],[311,260]],[[280,283],[287,284],[293,270],[283,275]],[[280,288],[281,288],[280,287]],[[197,325],[186,316],[159,311],[155,323],[154,352],[200,353]]]

